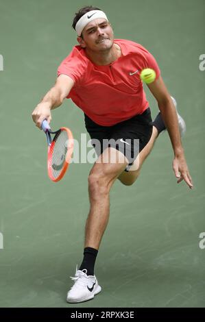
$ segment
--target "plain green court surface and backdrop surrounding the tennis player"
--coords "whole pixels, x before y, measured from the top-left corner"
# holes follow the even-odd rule
[[[71,164],[62,182],[49,181],[45,136],[31,114],[76,44],[73,14],[87,4],[105,10],[116,38],[155,56],[186,120],[183,145],[195,187],[176,184],[169,136],[160,135],[136,183],[112,188],[95,269],[103,291],[71,305],[66,294],[82,260],[92,164]],[[1,307],[205,305],[204,14],[204,0],[0,0]],[[156,101],[146,92],[154,118]],[[71,127],[77,139],[86,132],[71,100],[52,116],[54,129]]]

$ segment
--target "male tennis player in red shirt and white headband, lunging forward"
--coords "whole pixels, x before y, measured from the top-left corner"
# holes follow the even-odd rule
[[[71,277],[75,282],[67,295],[68,302],[77,303],[93,299],[101,291],[94,265],[108,223],[110,188],[116,179],[125,185],[135,182],[163,130],[168,130],[171,139],[177,182],[184,180],[189,188],[193,183],[180,138],[185,123],[151,53],[136,42],[114,39],[108,18],[99,8],[79,10],[73,28],[79,45],[60,64],[55,86],[32,117],[41,127],[44,119],[51,121],[51,110],[71,98],[84,112],[86,129],[99,156],[88,176],[91,209],[86,221],[84,258],[75,277]],[[156,71],[156,80],[148,85],[160,110],[153,123],[139,77],[145,68]]]

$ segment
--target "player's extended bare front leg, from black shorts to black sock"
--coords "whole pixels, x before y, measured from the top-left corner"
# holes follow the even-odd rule
[[[119,174],[125,169],[128,160],[123,153],[113,148],[108,148],[99,156],[117,153],[118,163],[96,162],[88,177],[88,191],[91,209],[88,214],[85,229],[84,247],[99,249],[101,238],[106,230],[110,213],[110,188]]]

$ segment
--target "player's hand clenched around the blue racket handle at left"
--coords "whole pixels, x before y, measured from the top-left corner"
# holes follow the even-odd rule
[[[39,129],[43,120],[47,119],[47,122],[51,122],[51,108],[50,104],[46,102],[39,103],[32,112],[32,119]]]

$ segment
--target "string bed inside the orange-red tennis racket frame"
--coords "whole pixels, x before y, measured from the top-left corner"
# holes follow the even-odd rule
[[[54,178],[57,178],[66,161],[69,137],[66,131],[59,130],[53,138],[51,145],[51,171]]]

